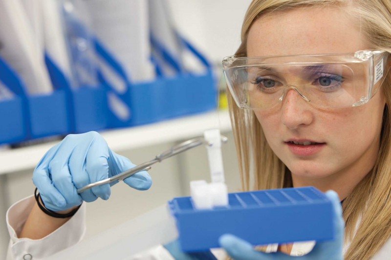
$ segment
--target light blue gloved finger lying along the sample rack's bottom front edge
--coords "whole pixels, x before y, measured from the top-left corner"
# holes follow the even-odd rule
[[[220,246],[223,247],[225,251],[230,255],[230,257],[236,260],[292,259],[290,256],[287,256],[280,252],[268,254],[257,251],[249,242],[239,239],[238,237],[231,234],[222,235],[219,238],[218,242]]]

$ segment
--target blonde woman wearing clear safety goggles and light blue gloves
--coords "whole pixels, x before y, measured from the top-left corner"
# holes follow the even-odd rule
[[[303,258],[342,259],[344,254],[348,260],[383,259],[384,252],[391,252],[391,2],[254,0],[241,39],[236,56],[249,58],[227,59],[224,70],[243,190],[250,190],[250,175],[254,189],[312,185],[334,190],[343,201],[345,241],[342,233],[337,234],[335,241],[318,243]],[[384,52],[357,53],[361,50]],[[88,158],[100,158],[100,162],[88,165]],[[66,138],[49,150],[33,181],[44,205],[59,211],[76,207],[82,200],[108,199],[108,185],[81,197],[75,186],[130,166],[112,154],[98,135],[87,133]],[[127,183],[139,189],[151,185],[146,173]],[[337,198],[333,193],[327,196]],[[337,228],[343,230],[336,204]],[[69,220],[53,220],[44,218],[35,204],[28,205],[33,209],[21,232],[16,232],[19,238],[44,240],[61,232],[65,236],[65,227],[82,219],[83,208]],[[37,223],[50,225],[42,231]],[[82,233],[64,246],[80,240]],[[14,256],[19,241],[14,238],[10,245]],[[289,258],[257,252],[230,235],[220,243],[236,259]],[[279,245],[278,250],[290,254],[291,247]],[[159,250],[155,255],[167,257],[170,252],[176,258],[188,257],[177,252],[175,243]]]

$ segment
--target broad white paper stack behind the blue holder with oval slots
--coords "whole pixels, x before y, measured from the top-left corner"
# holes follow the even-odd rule
[[[134,82],[153,80],[148,1],[94,0],[85,1],[85,4],[96,38],[115,57],[126,77]],[[126,82],[110,68],[110,63],[99,56],[98,62],[105,77],[112,79],[111,85],[120,93],[126,92]]]

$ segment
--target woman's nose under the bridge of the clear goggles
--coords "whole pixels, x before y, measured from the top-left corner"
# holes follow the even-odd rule
[[[292,130],[309,125],[314,115],[307,101],[295,88],[288,89],[282,100],[282,123]]]

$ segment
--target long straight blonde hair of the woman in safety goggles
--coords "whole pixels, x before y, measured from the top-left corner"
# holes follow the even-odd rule
[[[253,22],[262,15],[320,5],[340,8],[348,6],[347,12],[360,19],[362,32],[372,48],[391,53],[390,0],[253,0],[243,21],[242,42],[236,56],[247,56],[248,31]],[[386,105],[377,161],[371,172],[361,180],[343,203],[345,240],[350,241],[345,254],[347,260],[371,258],[391,236],[391,73],[387,74],[381,90]],[[230,93],[228,102],[239,158],[242,190],[291,186],[289,170],[268,145],[253,111],[239,109]],[[254,184],[253,187],[250,187],[251,183]],[[361,220],[358,221],[360,214]],[[357,223],[359,224],[356,229]]]

